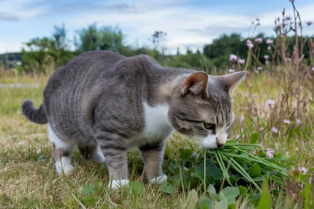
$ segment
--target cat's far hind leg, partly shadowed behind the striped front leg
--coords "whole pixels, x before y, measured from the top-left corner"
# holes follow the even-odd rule
[[[90,140],[87,144],[78,144],[78,149],[87,159],[92,159],[100,164],[105,162],[105,157],[95,139]]]

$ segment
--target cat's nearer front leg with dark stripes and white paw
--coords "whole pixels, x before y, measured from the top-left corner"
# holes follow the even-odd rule
[[[109,171],[108,188],[117,189],[129,183],[127,149],[108,140],[97,140],[106,158]],[[112,179],[112,182],[111,182]]]

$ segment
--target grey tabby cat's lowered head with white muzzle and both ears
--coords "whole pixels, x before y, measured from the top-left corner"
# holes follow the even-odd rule
[[[206,148],[223,146],[234,122],[233,93],[245,74],[208,76],[196,72],[181,80],[169,105],[171,124]]]

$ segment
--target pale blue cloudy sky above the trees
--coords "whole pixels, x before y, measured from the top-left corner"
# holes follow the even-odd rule
[[[314,34],[314,1],[295,0],[303,34]],[[68,38],[90,24],[118,26],[125,35],[125,44],[149,46],[155,30],[167,33],[160,47],[175,54],[179,47],[185,53],[203,49],[204,44],[222,34],[249,36],[249,27],[256,18],[260,26],[255,34],[271,36],[274,20],[281,11],[293,17],[288,0],[0,0],[0,54],[18,52],[24,43],[35,37],[51,37],[53,26],[65,24]],[[252,36],[252,33],[251,33]]]

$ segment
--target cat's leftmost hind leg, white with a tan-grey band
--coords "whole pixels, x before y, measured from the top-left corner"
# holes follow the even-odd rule
[[[48,132],[50,142],[53,146],[57,173],[69,174],[73,170],[73,166],[71,165],[71,151],[73,149],[73,144],[70,143],[70,141],[60,139],[50,125],[48,126]]]

